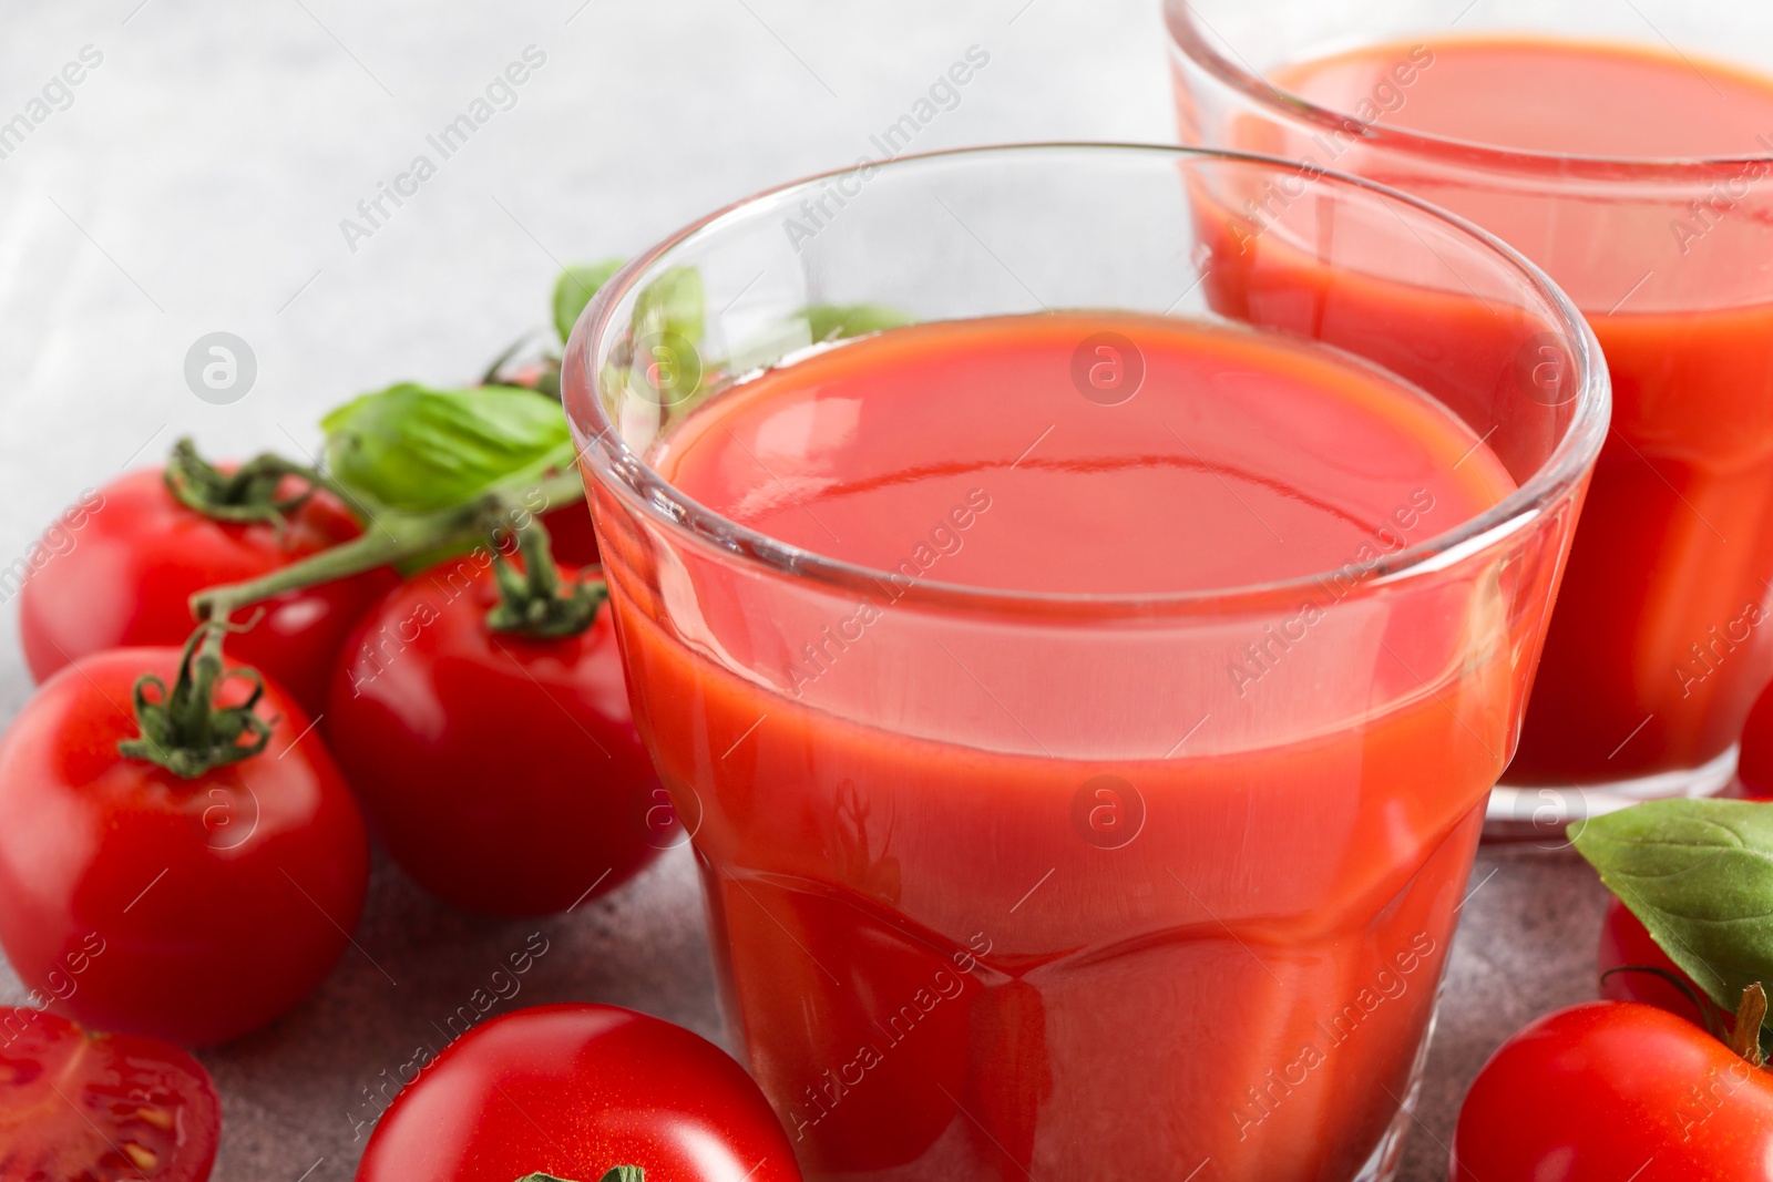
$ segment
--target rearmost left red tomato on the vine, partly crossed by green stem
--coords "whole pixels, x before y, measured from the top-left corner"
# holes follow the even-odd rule
[[[161,470],[131,471],[64,514],[32,551],[18,610],[25,663],[44,680],[106,649],[181,645],[195,592],[259,578],[356,535],[356,521],[326,493],[284,528],[232,525],[174,500]],[[390,571],[369,571],[278,595],[229,650],[312,716],[324,709],[351,626],[392,585]]]

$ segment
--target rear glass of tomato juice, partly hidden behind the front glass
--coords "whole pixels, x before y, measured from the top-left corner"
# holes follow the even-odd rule
[[[1725,787],[1773,675],[1773,11],[1167,0],[1167,18],[1184,142],[1470,218],[1601,340],[1617,411],[1496,829]],[[1285,200],[1254,195],[1246,232]]]

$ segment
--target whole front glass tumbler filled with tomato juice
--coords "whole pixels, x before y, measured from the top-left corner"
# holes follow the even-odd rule
[[[677,234],[566,386],[808,1178],[1390,1177],[1606,431],[1543,275],[1284,161],[979,149]]]

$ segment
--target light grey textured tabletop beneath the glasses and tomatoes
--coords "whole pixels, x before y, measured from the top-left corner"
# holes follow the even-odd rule
[[[101,60],[21,144],[0,140],[0,565],[83,487],[181,432],[215,454],[305,448],[349,393],[479,372],[541,323],[557,261],[631,252],[730,198],[849,163],[968,46],[989,66],[917,149],[1167,140],[1156,9],[5,0],[0,122],[87,46]],[[546,60],[514,105],[369,225],[358,202],[527,46]],[[346,218],[369,232],[348,234]],[[257,358],[252,392],[229,406],[195,399],[183,376],[190,346],[218,330]],[[0,721],[30,693],[11,611]],[[1472,884],[1413,1180],[1445,1175],[1441,1143],[1484,1056],[1592,992],[1601,895],[1580,863],[1486,852]],[[605,999],[718,1037],[686,851],[541,923],[449,911],[381,865],[362,955],[269,1030],[204,1053],[225,1099],[216,1177],[349,1178],[369,1097],[535,930],[548,953],[507,1007]],[[0,1001],[18,999],[0,969]]]

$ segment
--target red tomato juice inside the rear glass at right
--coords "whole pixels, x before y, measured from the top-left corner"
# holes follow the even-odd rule
[[[1401,85],[1394,71],[1411,55]],[[1638,159],[1773,154],[1773,80],[1691,55],[1454,39],[1367,48],[1275,80],[1332,110],[1369,101],[1379,129],[1470,144]],[[1271,129],[1255,138],[1243,145],[1307,147],[1277,144]],[[1619,780],[1722,755],[1773,673],[1761,627],[1773,576],[1773,167],[1748,161],[1709,186],[1645,186],[1628,200],[1551,175],[1489,184],[1459,170],[1452,149],[1332,154],[1330,167],[1441,204],[1546,268],[1589,315],[1612,370],[1613,431],[1511,780]]]

